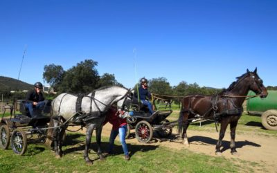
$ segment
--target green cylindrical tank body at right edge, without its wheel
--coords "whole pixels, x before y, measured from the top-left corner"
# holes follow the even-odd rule
[[[247,100],[247,111],[249,113],[262,113],[269,109],[277,109],[277,91],[267,91],[267,98],[250,98]],[[253,91],[249,91],[248,95],[256,95]]]

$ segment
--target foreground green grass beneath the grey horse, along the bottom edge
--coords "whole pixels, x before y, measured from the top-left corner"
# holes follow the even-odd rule
[[[95,138],[93,138],[93,142]],[[107,149],[108,138],[102,139],[102,148]],[[0,150],[1,172],[249,172],[256,163],[238,159],[226,159],[204,154],[195,154],[187,149],[169,149],[156,145],[128,145],[131,160],[125,161],[118,141],[116,154],[99,161],[96,143],[92,144],[89,156],[93,165],[86,165],[83,158],[84,135],[67,134],[65,155],[56,159],[55,154],[39,144],[29,144],[24,156],[15,155],[11,149]],[[250,171],[251,172],[251,171]]]

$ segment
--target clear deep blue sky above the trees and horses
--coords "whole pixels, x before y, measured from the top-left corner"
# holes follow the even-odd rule
[[[274,0],[1,0],[0,21],[0,75],[17,79],[27,45],[19,80],[30,84],[46,64],[92,59],[126,87],[164,77],[226,88],[256,67],[277,86]]]

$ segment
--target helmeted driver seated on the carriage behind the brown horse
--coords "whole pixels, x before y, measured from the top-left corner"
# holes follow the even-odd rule
[[[139,94],[137,93],[139,92]],[[151,99],[152,94],[148,91],[148,80],[146,78],[141,78],[141,85],[139,86],[138,91],[135,92],[135,97],[139,99],[143,105],[147,106],[150,114],[153,114],[152,104],[149,101]]]

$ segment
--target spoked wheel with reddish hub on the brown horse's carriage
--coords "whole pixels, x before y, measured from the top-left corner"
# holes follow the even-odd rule
[[[153,136],[153,129],[149,122],[141,120],[136,125],[136,138],[141,143],[148,143]]]

